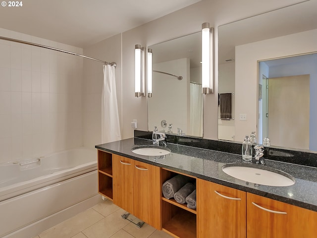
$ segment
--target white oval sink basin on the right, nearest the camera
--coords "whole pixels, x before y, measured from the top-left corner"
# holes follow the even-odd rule
[[[290,186],[295,179],[289,174],[264,165],[231,163],[222,171],[233,178],[268,186]]]

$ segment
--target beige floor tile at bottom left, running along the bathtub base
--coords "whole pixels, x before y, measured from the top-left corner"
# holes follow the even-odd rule
[[[71,238],[103,218],[104,216],[90,208],[39,234],[39,236],[40,238]]]

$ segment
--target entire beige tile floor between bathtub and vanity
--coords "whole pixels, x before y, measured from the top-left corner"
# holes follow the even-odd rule
[[[172,238],[148,224],[138,228],[121,218],[124,212],[106,200],[34,238]]]

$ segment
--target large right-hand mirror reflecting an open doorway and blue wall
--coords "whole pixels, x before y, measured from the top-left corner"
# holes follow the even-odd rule
[[[256,131],[259,143],[317,151],[316,9],[305,1],[218,27],[218,92],[232,95],[218,139]]]

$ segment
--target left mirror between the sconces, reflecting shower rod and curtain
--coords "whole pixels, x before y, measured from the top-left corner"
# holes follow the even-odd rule
[[[148,47],[153,58],[150,131],[157,126],[167,134],[203,136],[201,41],[198,32]]]

